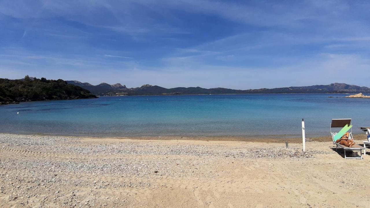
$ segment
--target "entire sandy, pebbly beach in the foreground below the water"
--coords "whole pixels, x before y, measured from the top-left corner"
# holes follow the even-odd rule
[[[233,140],[0,134],[0,207],[370,206],[369,153]]]

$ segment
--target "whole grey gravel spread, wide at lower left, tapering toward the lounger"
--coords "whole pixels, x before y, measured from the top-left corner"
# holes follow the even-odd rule
[[[208,170],[217,161],[309,160],[317,154],[333,153],[0,134],[0,198],[15,207],[125,207],[128,199],[112,198],[109,190],[160,189],[152,181],[162,177],[213,180],[226,174]],[[109,197],[102,197],[105,192]]]

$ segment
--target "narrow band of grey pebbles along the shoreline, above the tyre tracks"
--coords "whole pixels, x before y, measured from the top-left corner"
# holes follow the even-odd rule
[[[94,144],[77,138],[0,134],[0,147],[24,148],[29,151],[48,152],[53,154],[82,155],[188,155],[234,158],[312,158],[315,154],[331,154],[328,151],[302,152],[299,148],[225,148],[222,145],[165,145],[147,144],[144,142],[117,142]]]

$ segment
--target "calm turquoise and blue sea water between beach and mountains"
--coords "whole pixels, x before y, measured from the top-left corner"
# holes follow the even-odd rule
[[[120,96],[0,106],[0,132],[93,136],[328,135],[331,118],[370,126],[370,99],[344,94]],[[17,114],[19,112],[19,114]]]

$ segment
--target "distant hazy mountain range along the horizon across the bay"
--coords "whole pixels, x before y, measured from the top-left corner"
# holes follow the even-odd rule
[[[80,81],[67,81],[89,90],[95,95],[180,95],[180,94],[257,94],[257,93],[370,93],[369,87],[360,87],[344,83],[329,85],[312,85],[306,87],[261,88],[250,90],[233,90],[228,88],[201,88],[201,87],[176,87],[164,88],[157,85],[144,84],[141,87],[127,88],[120,83],[101,83],[92,85]]]

